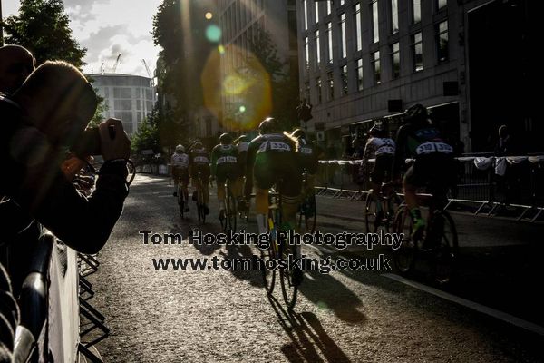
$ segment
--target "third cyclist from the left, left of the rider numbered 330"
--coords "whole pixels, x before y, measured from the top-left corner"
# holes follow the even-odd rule
[[[211,175],[218,185],[219,219],[225,217],[225,182],[232,182],[234,197],[239,198],[238,148],[232,144],[232,136],[223,133],[219,136],[219,145],[211,152]]]

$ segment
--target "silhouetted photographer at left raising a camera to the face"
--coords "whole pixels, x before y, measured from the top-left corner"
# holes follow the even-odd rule
[[[66,147],[76,142],[96,105],[91,84],[77,68],[63,62],[42,64],[9,99],[0,99],[4,127],[0,162],[6,171],[0,195],[15,201],[68,246],[85,253],[102,248],[128,194],[130,141],[120,120],[100,124],[105,162],[88,199],[62,171]],[[1,223],[5,226],[11,221]]]

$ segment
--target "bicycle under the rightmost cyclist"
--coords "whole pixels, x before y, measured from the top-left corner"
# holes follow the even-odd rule
[[[403,233],[401,247],[394,251],[393,260],[398,270],[404,275],[410,274],[415,261],[420,255],[431,260],[432,280],[439,285],[452,280],[455,262],[459,256],[457,229],[452,216],[444,210],[446,205],[443,193],[418,193],[417,197],[428,204],[427,226],[420,240],[411,237],[413,221],[408,208],[403,202],[397,209],[393,228],[396,233]]]

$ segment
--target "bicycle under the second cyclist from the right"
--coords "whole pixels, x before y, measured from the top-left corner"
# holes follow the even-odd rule
[[[382,210],[377,211],[377,201],[381,201]],[[379,195],[374,195],[373,191],[368,191],[364,201],[364,226],[367,233],[374,233],[380,227],[389,232],[393,223],[395,205],[401,204],[401,198],[394,191],[393,184],[389,182],[382,183]]]

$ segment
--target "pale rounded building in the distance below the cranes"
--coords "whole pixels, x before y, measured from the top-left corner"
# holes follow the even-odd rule
[[[87,74],[104,98],[104,118],[121,119],[128,134],[151,113],[157,100],[151,78],[130,74]]]

